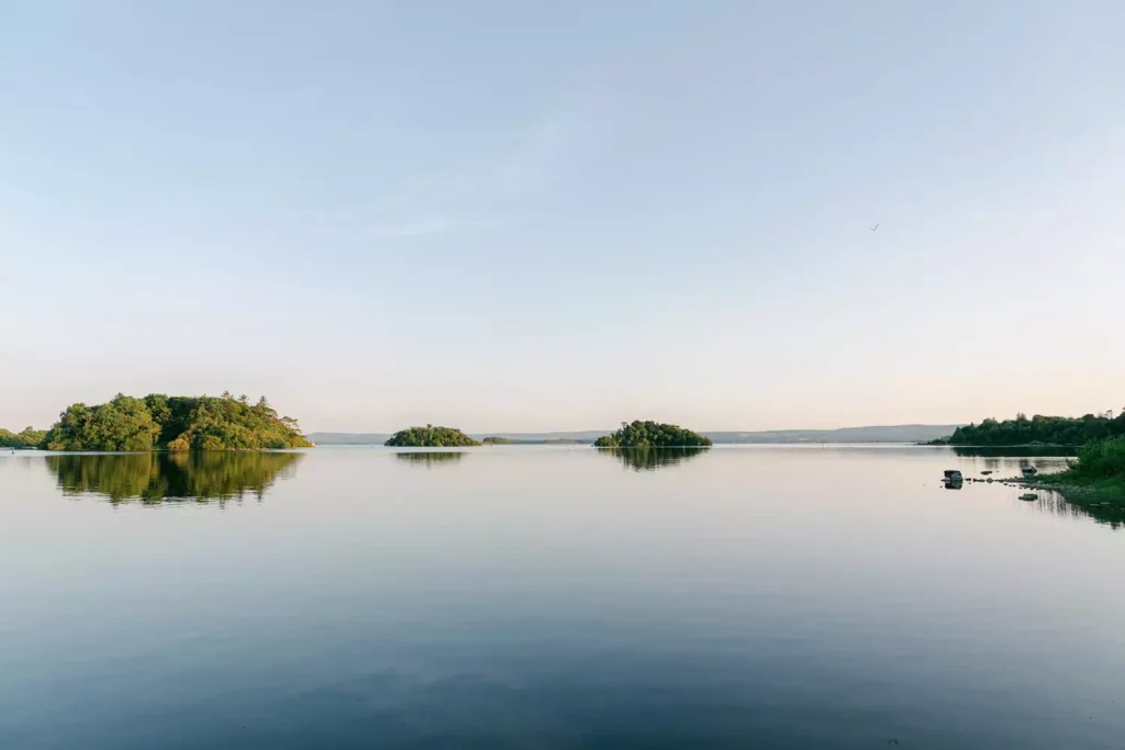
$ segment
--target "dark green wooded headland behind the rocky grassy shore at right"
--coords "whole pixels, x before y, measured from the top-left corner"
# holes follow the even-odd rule
[[[1036,414],[1030,419],[1017,414],[1015,419],[984,419],[957,427],[948,437],[932,445],[1065,445],[1078,446],[1096,440],[1125,435],[1125,410],[1116,418],[1112,412],[1081,417],[1055,417]]]

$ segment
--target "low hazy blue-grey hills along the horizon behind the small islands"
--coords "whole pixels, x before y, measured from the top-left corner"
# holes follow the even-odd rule
[[[960,425],[885,425],[839,430],[773,430],[767,432],[704,432],[714,443],[924,443],[948,437]],[[513,443],[593,443],[612,430],[579,432],[488,432],[471,437],[507,437]],[[382,445],[389,433],[314,432],[317,445]]]

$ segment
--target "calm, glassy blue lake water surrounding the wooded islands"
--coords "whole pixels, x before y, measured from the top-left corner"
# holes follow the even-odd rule
[[[0,748],[1123,748],[1125,531],[939,481],[1018,463],[0,457]]]

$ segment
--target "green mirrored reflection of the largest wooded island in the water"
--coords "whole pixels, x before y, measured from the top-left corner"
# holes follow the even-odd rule
[[[261,499],[279,476],[296,471],[302,453],[207,452],[45,457],[64,495],[92,493],[112,503]]]

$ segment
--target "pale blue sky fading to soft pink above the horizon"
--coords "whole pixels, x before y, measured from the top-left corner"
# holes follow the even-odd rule
[[[118,391],[370,432],[1125,406],[1116,0],[3,17],[8,428]]]

